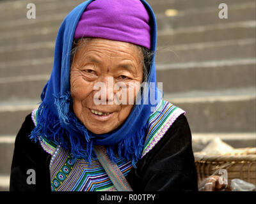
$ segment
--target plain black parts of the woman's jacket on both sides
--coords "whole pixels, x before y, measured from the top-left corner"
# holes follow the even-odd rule
[[[29,139],[35,128],[26,117],[15,140],[10,191],[51,191],[51,155],[39,142]],[[180,115],[163,138],[132,168],[127,181],[134,191],[197,191],[197,176],[191,145],[191,131]],[[36,184],[27,184],[27,171],[36,172]]]

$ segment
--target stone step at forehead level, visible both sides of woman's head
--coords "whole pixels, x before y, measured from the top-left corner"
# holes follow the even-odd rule
[[[242,40],[223,40],[207,43],[190,43],[157,47],[157,63],[175,63],[187,61],[212,61],[223,59],[250,58],[255,56],[255,38]],[[29,43],[26,47],[0,48],[0,60],[17,61],[38,58],[38,56],[52,57],[54,55],[54,41],[43,43]]]

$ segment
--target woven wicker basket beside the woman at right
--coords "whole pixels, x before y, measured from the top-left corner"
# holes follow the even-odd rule
[[[256,149],[236,149],[230,154],[207,154],[195,152],[198,184],[211,175],[221,175],[227,170],[228,184],[232,179],[242,179],[256,185]]]

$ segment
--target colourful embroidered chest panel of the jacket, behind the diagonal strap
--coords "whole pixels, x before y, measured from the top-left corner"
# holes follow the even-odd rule
[[[98,159],[89,164],[84,159],[75,159],[61,147],[56,158],[50,169],[52,191],[115,191]],[[125,163],[120,158],[116,164],[125,176],[132,168],[130,161]]]

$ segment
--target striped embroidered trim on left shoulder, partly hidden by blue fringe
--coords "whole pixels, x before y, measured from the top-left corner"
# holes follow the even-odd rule
[[[37,122],[36,122],[37,113],[38,113],[38,109],[33,110],[31,113],[31,119],[33,120],[33,123],[35,126],[37,125]],[[39,137],[39,141],[40,141],[40,145],[45,150],[45,152],[51,155],[54,154],[57,147],[56,143],[50,142],[45,137]]]

